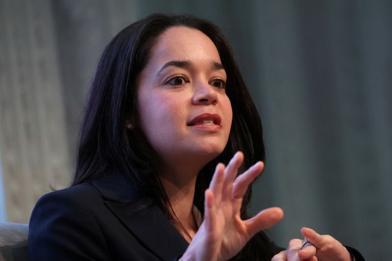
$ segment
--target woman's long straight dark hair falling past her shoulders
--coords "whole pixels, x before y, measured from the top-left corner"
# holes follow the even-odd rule
[[[206,34],[218,49],[227,74],[226,94],[233,109],[229,140],[223,152],[207,164],[197,176],[195,200],[203,213],[204,190],[214,173],[215,166],[227,164],[241,150],[245,163],[241,173],[256,161],[265,160],[261,121],[246,88],[241,71],[221,30],[209,21],[187,15],[150,15],[130,24],[108,44],[98,62],[82,122],[73,184],[77,185],[107,174],[123,175],[141,194],[150,196],[177,227],[184,230],[172,212],[165,190],[159,182],[159,169],[153,149],[143,133],[135,128],[126,129],[129,115],[137,118],[136,78],[146,66],[150,49],[159,35],[172,26],[187,26]],[[251,188],[247,190],[241,216],[248,218],[247,209]],[[185,232],[186,231],[181,231]],[[235,257],[242,260],[271,258],[270,240],[257,234]]]

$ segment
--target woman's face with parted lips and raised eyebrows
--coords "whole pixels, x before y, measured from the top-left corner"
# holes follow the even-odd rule
[[[218,50],[201,31],[175,26],[158,37],[138,76],[136,127],[165,162],[210,161],[223,151],[232,121],[225,82]]]

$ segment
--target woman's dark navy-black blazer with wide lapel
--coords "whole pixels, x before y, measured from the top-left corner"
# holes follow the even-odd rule
[[[184,237],[126,184],[116,175],[41,197],[29,223],[30,261],[172,261],[184,253]],[[272,244],[274,254],[281,250]]]

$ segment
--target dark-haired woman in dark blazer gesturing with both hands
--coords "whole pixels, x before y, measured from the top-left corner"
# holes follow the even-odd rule
[[[261,122],[210,22],[151,15],[123,29],[85,110],[72,186],[31,215],[31,260],[351,259],[307,229],[315,246],[275,246],[262,230],[283,217],[279,208],[248,217],[265,159]]]

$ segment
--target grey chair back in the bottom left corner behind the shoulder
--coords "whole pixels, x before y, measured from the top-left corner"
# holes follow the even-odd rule
[[[26,261],[28,224],[0,222],[0,261]]]

